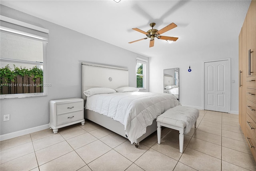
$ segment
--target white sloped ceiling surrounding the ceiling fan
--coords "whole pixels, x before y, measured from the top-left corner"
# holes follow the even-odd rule
[[[250,0],[246,1],[175,1],[175,0],[1,0],[2,5],[76,30],[98,40],[148,57],[170,56],[173,51],[238,40]],[[176,28],[162,36],[178,37],[168,44],[155,40],[149,48],[149,39],[140,32],[160,30],[174,22]]]

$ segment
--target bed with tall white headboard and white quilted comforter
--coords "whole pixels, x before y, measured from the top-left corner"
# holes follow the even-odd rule
[[[92,93],[93,95],[88,97],[84,93],[95,88],[116,90],[120,87],[128,87],[129,89],[128,78],[126,68],[82,63],[84,117],[128,138],[135,147],[138,147],[140,141],[156,131],[156,117],[180,103],[167,93],[128,91]],[[113,114],[112,111],[115,113]]]

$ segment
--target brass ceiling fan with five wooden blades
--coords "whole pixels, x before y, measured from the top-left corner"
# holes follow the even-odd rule
[[[154,29],[153,27],[156,25],[156,23],[152,22],[150,23],[150,27],[152,27],[152,29],[148,30],[147,32],[144,32],[138,28],[132,28],[132,30],[135,30],[137,32],[141,32],[143,34],[146,34],[147,38],[150,38],[150,43],[149,43],[149,47],[153,47],[154,46],[154,41],[155,41],[155,38],[158,38],[158,39],[162,39],[162,40],[170,40],[170,41],[176,41],[178,38],[175,38],[175,37],[169,37],[169,36],[160,36],[160,34],[164,33],[164,32],[167,32],[175,27],[177,27],[176,24],[174,23],[171,23],[169,24],[168,26],[162,28],[161,30],[156,30]],[[128,43],[134,43],[134,42],[138,42],[140,40],[144,40],[144,39],[147,39],[147,38],[142,38],[142,39],[139,39],[139,40],[135,40],[135,41],[132,41],[132,42],[128,42]]]

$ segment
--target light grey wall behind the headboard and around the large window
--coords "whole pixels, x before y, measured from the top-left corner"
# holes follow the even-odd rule
[[[128,68],[129,86],[135,87],[136,57],[148,60],[147,57],[6,6],[1,5],[0,12],[3,16],[49,30],[47,80],[48,84],[52,84],[44,97],[1,99],[0,135],[48,124],[49,101],[52,99],[81,97],[81,62]],[[10,121],[3,121],[5,114],[10,114]]]

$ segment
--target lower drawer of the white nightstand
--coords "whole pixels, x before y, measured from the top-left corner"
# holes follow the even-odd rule
[[[57,116],[57,125],[61,125],[63,123],[68,123],[72,121],[76,121],[79,119],[84,119],[84,113],[82,111],[76,111],[72,113],[66,113]]]

